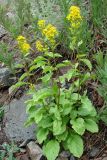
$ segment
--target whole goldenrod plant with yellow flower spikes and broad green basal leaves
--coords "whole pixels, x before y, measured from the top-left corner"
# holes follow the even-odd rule
[[[80,8],[71,6],[66,19],[73,35],[70,45],[72,50],[78,51],[80,42],[76,32],[83,19]],[[26,125],[37,124],[37,140],[43,145],[43,153],[48,160],[55,160],[62,147],[80,158],[84,149],[82,137],[85,131],[98,132],[97,112],[85,88],[86,81],[91,79],[92,65],[86,54],[77,53],[72,61],[63,59],[56,52],[60,31],[53,24],[40,19],[37,28],[39,38],[37,36],[35,44],[41,55],[36,58],[30,59],[32,47],[28,40],[22,35],[17,38],[23,58],[30,62],[27,63],[26,72],[14,86],[29,85],[28,93],[32,98],[26,101],[29,115]],[[62,60],[57,61],[59,58]],[[60,69],[67,66],[69,70],[64,74],[60,73]],[[41,86],[37,89],[35,83],[26,78],[39,68],[41,74],[36,82],[41,81]]]

